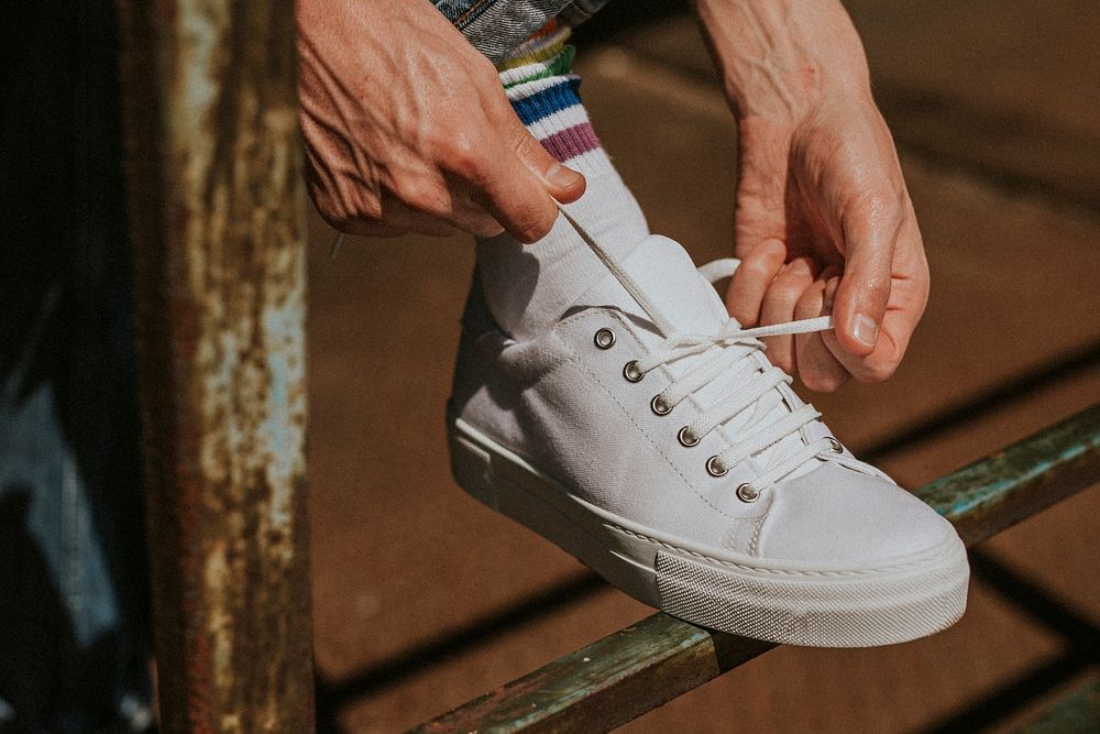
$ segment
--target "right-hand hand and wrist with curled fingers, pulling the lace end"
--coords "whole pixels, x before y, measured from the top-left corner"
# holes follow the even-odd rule
[[[832,332],[768,355],[829,392],[889,377],[924,313],[928,265],[862,46],[835,0],[695,0],[738,119],[736,253],[744,326],[832,313]]]

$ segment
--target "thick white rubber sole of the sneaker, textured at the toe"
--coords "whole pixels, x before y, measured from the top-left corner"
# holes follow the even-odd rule
[[[468,493],[686,622],[788,645],[871,647],[939,632],[966,609],[969,566],[957,537],[875,568],[716,558],[573,495],[461,418],[448,419],[448,434]]]

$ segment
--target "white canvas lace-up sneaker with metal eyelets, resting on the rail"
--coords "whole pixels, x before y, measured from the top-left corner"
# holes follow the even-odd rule
[[[955,529],[845,450],[761,353],[757,337],[829,320],[741,330],[675,242],[619,264],[571,223],[610,272],[544,336],[502,333],[474,278],[448,416],[459,484],[702,626],[862,647],[958,621]]]

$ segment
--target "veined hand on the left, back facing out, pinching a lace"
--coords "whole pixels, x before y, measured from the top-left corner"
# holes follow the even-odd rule
[[[534,242],[553,199],[584,193],[427,0],[297,0],[295,13],[307,185],[333,228]]]

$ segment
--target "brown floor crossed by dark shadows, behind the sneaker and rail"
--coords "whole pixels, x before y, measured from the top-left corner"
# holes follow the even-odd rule
[[[1042,23],[1016,2],[969,3],[965,17],[949,2],[880,6],[854,8],[877,89],[888,92],[883,108],[897,116],[933,297],[890,383],[814,399],[857,452],[878,447],[880,465],[916,485],[1100,397],[1100,149],[1091,142],[1100,136],[1100,57],[1086,6],[1045,6]],[[735,144],[695,39],[689,20],[667,18],[582,47],[581,58],[597,131],[652,229],[704,261],[728,252]],[[1082,98],[1090,84],[1093,96]],[[908,114],[914,107],[920,116]],[[967,143],[959,131],[968,110],[985,125],[1004,121],[1000,134],[1013,145]],[[966,134],[980,142],[977,132]],[[330,262],[329,238],[315,220],[309,460],[320,698],[342,731],[395,731],[648,609],[573,583],[576,561],[450,480],[443,402],[469,242],[351,240]],[[1027,382],[1044,372],[1044,382]],[[1005,386],[1009,402],[986,409],[983,398]],[[897,445],[908,428],[947,414],[967,420]],[[1100,492],[1088,491],[986,551],[1096,623],[1098,517]],[[547,590],[556,603],[524,605]],[[931,639],[776,650],[627,730],[928,726],[1063,645],[981,581],[971,594],[966,618]]]

